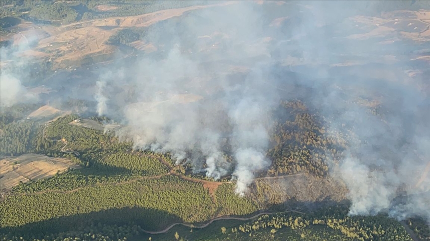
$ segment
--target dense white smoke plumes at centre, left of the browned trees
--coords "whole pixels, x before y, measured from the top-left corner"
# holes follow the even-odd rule
[[[240,16],[234,9],[240,9]],[[268,80],[268,73],[263,65],[249,60],[264,55],[267,58],[268,43],[254,41],[260,37],[253,29],[259,26],[260,13],[252,4],[205,11],[200,14],[216,20],[211,25],[212,32],[200,22],[189,22],[188,30],[213,34],[229,51],[220,49],[216,43],[192,45],[190,42],[200,41],[197,35],[185,43],[178,40],[180,44],[173,37],[172,47],[163,60],[139,60],[127,71],[127,77],[103,78],[108,81],[104,88],[120,88],[118,83],[124,82],[136,86],[139,94],[134,103],[120,107],[127,127],[118,132],[121,138],[132,140],[134,148],[170,152],[177,165],[190,163],[194,172],[205,173],[215,180],[232,175],[237,179],[237,193],[243,194],[254,175],[270,165],[265,158],[267,123],[277,97],[273,93],[267,95],[264,82]],[[252,16],[253,20],[244,18],[245,15]],[[165,26],[163,31],[180,36],[182,33],[176,32],[176,28]],[[221,35],[218,32],[221,28],[228,31]],[[152,36],[157,32],[147,34]],[[215,50],[190,55],[184,51],[185,46]],[[228,70],[217,61],[231,60],[246,63],[252,75],[228,79],[234,69]],[[207,94],[208,91],[217,93],[216,97]],[[120,101],[110,93],[104,96],[107,95],[109,103]],[[99,106],[104,107],[106,100],[98,96]]]

